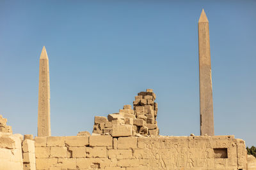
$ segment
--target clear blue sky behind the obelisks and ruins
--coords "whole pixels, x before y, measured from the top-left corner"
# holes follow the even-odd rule
[[[0,114],[36,135],[42,47],[52,136],[92,132],[154,89],[160,134],[200,134],[197,22],[209,19],[216,135],[256,145],[256,1],[0,1]]]

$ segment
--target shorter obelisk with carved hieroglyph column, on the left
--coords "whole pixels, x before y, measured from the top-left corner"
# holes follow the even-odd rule
[[[45,46],[39,61],[37,136],[51,136],[49,59]]]

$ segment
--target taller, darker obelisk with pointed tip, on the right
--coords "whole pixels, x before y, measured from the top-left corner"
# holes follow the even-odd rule
[[[200,134],[214,136],[209,21],[204,9],[198,21]]]

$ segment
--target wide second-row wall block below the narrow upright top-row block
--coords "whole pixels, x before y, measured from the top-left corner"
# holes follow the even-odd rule
[[[132,150],[108,150],[109,159],[132,159]]]

